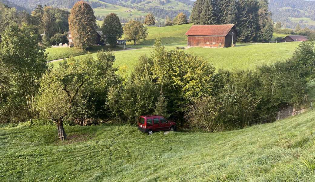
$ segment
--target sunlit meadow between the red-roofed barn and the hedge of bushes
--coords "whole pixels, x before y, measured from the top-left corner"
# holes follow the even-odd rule
[[[189,48],[184,51],[193,53],[196,56],[202,56],[204,60],[212,63],[216,70],[232,70],[234,68],[255,69],[256,66],[259,65],[284,61],[292,56],[295,47],[299,44],[299,42],[237,44],[236,47],[224,49]],[[166,46],[167,49],[175,49],[175,47],[176,46],[173,45]],[[138,57],[143,54],[149,55],[151,51],[151,48],[114,51],[114,55],[116,56],[114,67],[127,66],[129,71],[131,71],[135,64],[137,64]],[[80,58],[82,56],[77,56],[75,58]],[[96,54],[92,54],[92,56],[96,56]],[[54,65],[58,66],[58,62],[54,62]]]

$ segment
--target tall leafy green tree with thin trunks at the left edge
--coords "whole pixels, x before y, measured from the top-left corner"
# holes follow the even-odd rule
[[[1,40],[0,67],[3,68],[1,72],[6,79],[0,82],[4,84],[3,88],[9,89],[6,90],[9,95],[3,97],[0,105],[16,102],[13,105],[20,107],[17,110],[25,111],[20,114],[27,113],[22,120],[24,121],[36,115],[35,97],[39,88],[38,80],[48,69],[45,63],[47,55],[38,45],[39,36],[32,25],[23,24],[19,27],[13,23],[1,33]]]

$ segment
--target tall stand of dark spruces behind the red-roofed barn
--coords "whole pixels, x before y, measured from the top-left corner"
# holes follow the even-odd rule
[[[190,19],[197,25],[235,24],[239,42],[269,41],[273,32],[267,0],[197,0]]]

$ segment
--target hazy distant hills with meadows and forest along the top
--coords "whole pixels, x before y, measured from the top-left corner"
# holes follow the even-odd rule
[[[35,9],[37,4],[71,9],[79,0],[0,0],[17,9]],[[109,13],[116,13],[120,18],[143,18],[152,13],[163,21],[167,16],[174,18],[184,12],[190,16],[194,0],[85,0],[95,11],[99,20]],[[315,0],[269,0],[272,19],[281,22],[284,27],[315,29]]]

